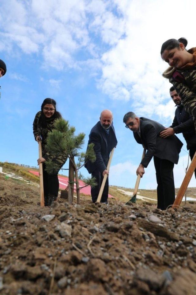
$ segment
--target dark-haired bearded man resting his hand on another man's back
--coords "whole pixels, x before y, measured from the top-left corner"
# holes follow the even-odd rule
[[[184,139],[187,142],[187,149],[189,150],[190,158],[192,160],[194,153],[196,152],[196,134],[193,117],[189,115],[187,111],[185,111],[181,103],[181,98],[173,86],[170,88],[169,93],[177,108],[175,110],[175,117],[172,125],[168,128],[165,128],[165,130],[160,133],[160,137],[167,138],[170,135],[182,133]]]

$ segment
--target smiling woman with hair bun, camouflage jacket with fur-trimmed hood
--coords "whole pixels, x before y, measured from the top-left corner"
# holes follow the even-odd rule
[[[196,47],[186,50],[185,38],[169,39],[161,47],[161,57],[170,67],[163,73],[179,94],[185,110],[193,116],[196,130]]]

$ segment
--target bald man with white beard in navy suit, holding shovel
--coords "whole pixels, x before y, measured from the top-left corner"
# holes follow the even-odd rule
[[[105,174],[107,172],[107,163],[110,157],[111,150],[117,145],[117,139],[115,135],[115,129],[113,126],[113,115],[109,110],[104,110],[101,112],[100,121],[92,127],[89,134],[89,142],[94,143],[94,151],[96,154],[96,161],[94,163],[87,161],[85,163],[85,168],[91,173],[92,177],[96,178],[96,185],[91,188],[92,202],[95,203],[100,191],[100,187]],[[101,203],[107,204],[108,198],[108,177],[104,187],[104,191],[101,197]]]

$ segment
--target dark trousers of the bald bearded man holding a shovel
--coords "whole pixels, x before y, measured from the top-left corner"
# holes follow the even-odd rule
[[[96,182],[98,184],[94,188],[91,188],[92,202],[95,203],[97,200],[97,197],[99,195],[100,187],[101,187],[104,177],[103,177],[102,173],[100,173],[98,170],[93,171],[91,175],[92,175],[92,177],[96,178]],[[107,177],[104,191],[103,191],[103,194],[101,197],[101,203],[105,203],[105,202],[107,203],[108,189],[109,189],[109,185],[108,185],[108,177]]]

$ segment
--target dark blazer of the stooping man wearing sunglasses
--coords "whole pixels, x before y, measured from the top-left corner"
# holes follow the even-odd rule
[[[153,156],[178,164],[179,153],[183,143],[175,135],[161,138],[159,134],[163,130],[164,126],[160,123],[144,117],[140,118],[141,137],[137,132],[134,132],[134,138],[147,150],[145,157],[141,161],[144,167],[148,166]]]

